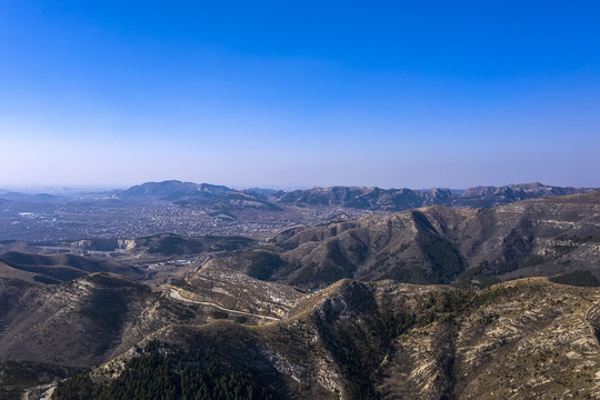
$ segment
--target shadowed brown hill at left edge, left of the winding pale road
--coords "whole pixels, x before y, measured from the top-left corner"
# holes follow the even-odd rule
[[[92,367],[170,323],[204,323],[212,310],[110,273],[53,286],[0,279],[0,361]]]

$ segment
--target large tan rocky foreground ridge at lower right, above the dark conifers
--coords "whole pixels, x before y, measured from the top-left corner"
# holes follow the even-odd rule
[[[480,292],[342,280],[278,322],[161,329],[57,399],[90,379],[103,396],[134,388],[143,376],[126,372],[149,352],[174,357],[174,376],[208,364],[242,371],[280,399],[591,399],[599,316],[599,289],[543,278]]]

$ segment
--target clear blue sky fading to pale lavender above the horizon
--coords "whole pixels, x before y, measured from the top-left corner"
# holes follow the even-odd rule
[[[0,0],[0,188],[600,187],[599,1]]]

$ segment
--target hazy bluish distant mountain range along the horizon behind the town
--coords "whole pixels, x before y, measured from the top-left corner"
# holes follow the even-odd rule
[[[281,207],[324,206],[361,210],[396,212],[426,206],[451,208],[491,208],[514,201],[540,197],[580,194],[594,191],[594,188],[552,187],[542,183],[520,183],[503,187],[476,187],[467,190],[451,189],[380,189],[367,187],[330,187],[294,190],[253,188],[237,190],[209,183],[146,182],[127,190],[114,190],[96,194],[114,197],[121,201],[169,201],[183,207],[211,206],[217,212],[240,209],[280,211]],[[79,194],[90,198],[94,193]],[[69,199],[53,194],[26,194],[19,192],[0,193],[0,200],[20,202],[62,202]]]

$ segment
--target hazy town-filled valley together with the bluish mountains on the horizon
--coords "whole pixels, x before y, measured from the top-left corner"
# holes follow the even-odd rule
[[[593,191],[541,183],[450,189],[332,187],[291,192],[238,190],[180,181],[69,196],[0,192],[0,242],[243,234],[266,239],[294,224],[337,216],[390,214],[419,207],[490,208],[519,200]]]

